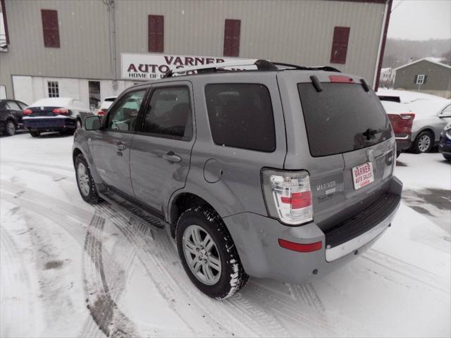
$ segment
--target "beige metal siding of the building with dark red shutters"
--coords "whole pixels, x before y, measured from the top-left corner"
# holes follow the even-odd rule
[[[340,70],[373,82],[384,4],[350,1],[116,0],[116,72],[121,53],[147,53],[147,15],[164,15],[165,54],[222,56],[226,18],[241,20],[240,57],[332,65],[333,27],[351,27]],[[100,0],[6,0],[11,44],[0,54],[0,84],[11,74],[112,79],[109,13]],[[61,48],[44,48],[41,9],[55,9]],[[25,24],[24,24],[25,23]],[[86,84],[87,85],[87,84]]]

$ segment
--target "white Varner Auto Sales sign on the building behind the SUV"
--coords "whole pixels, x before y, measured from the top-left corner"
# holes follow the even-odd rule
[[[159,80],[171,69],[237,60],[249,61],[243,58],[122,53],[121,76],[124,80]]]

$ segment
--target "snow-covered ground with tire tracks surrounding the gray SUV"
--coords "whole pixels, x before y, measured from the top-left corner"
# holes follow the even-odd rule
[[[308,284],[252,279],[221,302],[192,286],[166,232],[82,201],[71,145],[0,139],[1,337],[450,337],[440,154],[400,156],[403,204],[364,255]]]

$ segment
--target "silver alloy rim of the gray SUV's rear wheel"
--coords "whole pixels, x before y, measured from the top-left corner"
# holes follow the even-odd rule
[[[214,239],[199,225],[190,225],[183,233],[183,253],[191,272],[206,284],[221,278],[221,257]]]

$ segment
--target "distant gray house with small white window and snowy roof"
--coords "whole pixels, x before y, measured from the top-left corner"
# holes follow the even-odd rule
[[[395,68],[394,89],[451,97],[451,66],[438,58],[421,58]]]

